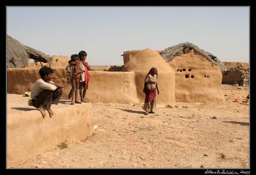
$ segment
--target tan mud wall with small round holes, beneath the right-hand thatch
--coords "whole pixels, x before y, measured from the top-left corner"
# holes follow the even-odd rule
[[[176,56],[168,65],[175,70],[175,97],[178,102],[224,104],[220,67],[201,55],[195,55],[193,50]]]

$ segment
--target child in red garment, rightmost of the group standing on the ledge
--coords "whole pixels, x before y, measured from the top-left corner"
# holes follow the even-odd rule
[[[88,89],[88,83],[90,80],[90,74],[88,71],[90,71],[90,66],[89,64],[85,61],[86,60],[86,56],[87,53],[85,51],[80,51],[78,53],[79,55],[79,59],[80,59],[80,63],[84,65],[84,81],[80,82],[80,96],[81,96],[81,101],[87,103],[88,100],[86,100],[85,95],[86,95],[86,90]],[[83,91],[84,89],[84,91]]]

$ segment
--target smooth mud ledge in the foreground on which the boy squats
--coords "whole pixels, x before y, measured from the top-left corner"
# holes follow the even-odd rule
[[[93,112],[90,103],[70,105],[61,99],[52,105],[50,119],[27,105],[28,97],[6,95],[6,167],[10,168],[46,150],[57,148],[67,138],[68,144],[85,139],[93,132]]]

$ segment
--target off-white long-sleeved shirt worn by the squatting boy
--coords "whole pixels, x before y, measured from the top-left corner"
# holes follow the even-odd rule
[[[54,83],[53,81],[50,82]],[[40,92],[42,92],[44,89],[55,91],[57,89],[57,86],[46,83],[43,79],[38,79],[32,87],[30,98],[38,96]]]

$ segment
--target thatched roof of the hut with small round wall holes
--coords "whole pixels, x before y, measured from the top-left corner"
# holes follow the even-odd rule
[[[214,56],[210,52],[205,52],[204,50],[201,50],[199,47],[189,42],[166,48],[165,50],[160,52],[160,55],[164,58],[166,62],[170,62],[175,56],[180,56],[180,54],[184,54],[185,49],[190,47],[193,48],[194,54],[204,56],[204,58],[219,66],[222,71],[227,69],[227,67],[220,60],[218,60],[216,56]]]

